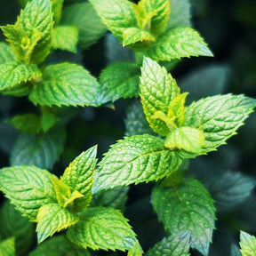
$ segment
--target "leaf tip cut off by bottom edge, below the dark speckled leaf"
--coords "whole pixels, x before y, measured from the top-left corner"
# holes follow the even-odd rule
[[[164,237],[150,248],[145,256],[189,256],[190,233],[187,231]]]

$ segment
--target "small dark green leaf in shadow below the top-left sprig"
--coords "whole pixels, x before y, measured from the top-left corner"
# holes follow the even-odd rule
[[[41,120],[33,113],[14,116],[8,119],[8,123],[22,132],[38,133],[41,130]]]

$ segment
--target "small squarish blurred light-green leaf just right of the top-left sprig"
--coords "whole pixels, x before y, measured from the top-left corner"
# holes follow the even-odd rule
[[[52,47],[76,53],[78,29],[74,26],[58,26],[52,33]]]

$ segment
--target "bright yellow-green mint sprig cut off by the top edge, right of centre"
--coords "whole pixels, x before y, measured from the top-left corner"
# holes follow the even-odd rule
[[[107,0],[102,4],[102,1],[91,0],[90,3],[123,45],[154,60],[212,56],[212,52],[194,29],[173,28],[173,24],[176,26],[177,22],[174,16],[170,21],[171,5],[174,5],[174,10],[175,5],[179,7],[179,3],[175,1],[140,0],[139,4],[132,4],[128,0]]]

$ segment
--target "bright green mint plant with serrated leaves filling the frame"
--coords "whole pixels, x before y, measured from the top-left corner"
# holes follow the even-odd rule
[[[232,93],[187,100],[189,92],[182,92],[170,69],[184,57],[212,57],[191,28],[189,2],[20,4],[14,25],[1,27],[6,40],[0,43],[0,92],[2,99],[27,100],[30,110],[5,116],[20,132],[10,166],[0,170],[0,255],[208,255],[221,202],[226,206],[229,200],[233,209],[250,196],[255,181],[217,171],[199,179],[189,174],[188,164],[226,144],[256,100]],[[107,30],[133,61],[109,63],[94,77],[81,56]],[[78,60],[65,59],[65,52]],[[129,103],[128,98],[137,101],[128,108],[124,138],[98,152],[99,161],[100,140],[82,153],[76,148],[70,160],[72,119],[86,109],[115,108],[117,100]],[[151,186],[151,213],[164,227],[164,235],[148,246],[126,216],[129,188],[140,183]],[[243,256],[253,255],[254,238],[241,233]],[[230,255],[240,253],[232,248]]]

